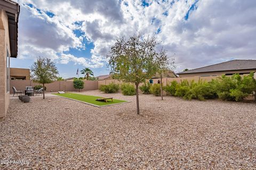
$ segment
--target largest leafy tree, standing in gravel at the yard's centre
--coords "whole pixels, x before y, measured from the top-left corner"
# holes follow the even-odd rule
[[[107,56],[113,78],[135,84],[137,114],[140,114],[139,84],[150,79],[155,73],[156,45],[155,37],[145,38],[140,34],[127,39],[122,37],[117,39]]]

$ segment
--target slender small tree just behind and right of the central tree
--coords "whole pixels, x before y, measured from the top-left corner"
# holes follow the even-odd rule
[[[160,77],[161,99],[163,100],[163,75],[175,68],[174,58],[168,58],[163,48],[155,56],[155,68]]]

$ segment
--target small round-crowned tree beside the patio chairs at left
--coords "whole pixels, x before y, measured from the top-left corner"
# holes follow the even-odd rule
[[[58,70],[50,58],[38,57],[36,62],[31,66],[31,78],[34,82],[43,84],[43,99],[44,84],[51,83],[58,78]]]

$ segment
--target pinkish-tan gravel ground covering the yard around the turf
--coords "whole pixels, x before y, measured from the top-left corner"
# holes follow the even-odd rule
[[[135,96],[82,93],[132,102],[12,98],[0,123],[0,169],[256,169],[255,104],[140,95],[137,116]]]

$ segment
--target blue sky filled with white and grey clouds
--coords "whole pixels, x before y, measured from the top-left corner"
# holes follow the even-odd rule
[[[118,37],[155,35],[176,72],[234,59],[256,59],[254,0],[18,0],[18,58],[29,68],[38,56],[57,63],[60,76],[77,68],[108,74],[106,54]]]

